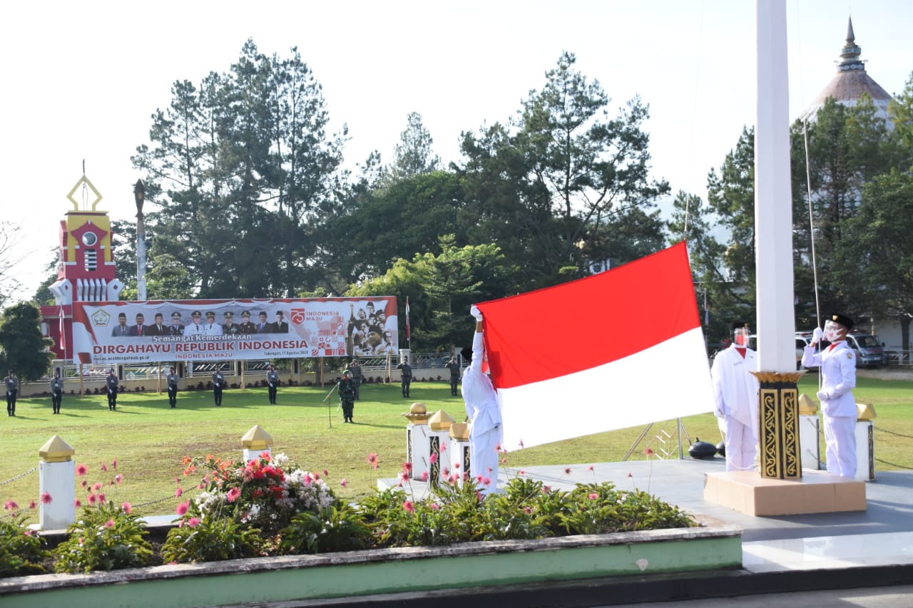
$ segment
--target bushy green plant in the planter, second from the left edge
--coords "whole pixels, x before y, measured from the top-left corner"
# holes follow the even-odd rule
[[[139,568],[152,560],[149,532],[140,519],[109,501],[82,509],[67,529],[68,539],[54,551],[58,572],[91,572]]]

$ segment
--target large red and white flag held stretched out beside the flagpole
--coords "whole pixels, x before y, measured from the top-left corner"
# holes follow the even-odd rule
[[[685,243],[478,308],[508,450],[713,409]]]

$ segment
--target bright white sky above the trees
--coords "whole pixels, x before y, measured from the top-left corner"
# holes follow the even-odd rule
[[[848,16],[876,82],[895,94],[913,73],[908,0],[786,6],[793,119],[833,77]],[[350,166],[373,150],[389,162],[411,111],[435,152],[459,160],[461,131],[508,120],[571,51],[610,111],[635,95],[649,104],[654,175],[706,197],[707,173],[755,122],[754,11],[750,0],[6,3],[0,216],[21,223],[30,255],[18,296],[47,277],[83,160],[99,208],[131,218],[142,175],[130,157],[148,142],[152,112],[175,81],[226,72],[248,37],[269,55],[299,48],[331,130],[348,124]]]

